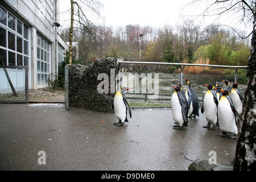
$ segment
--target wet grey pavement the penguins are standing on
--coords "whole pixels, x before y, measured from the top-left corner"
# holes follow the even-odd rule
[[[172,129],[170,108],[132,109],[124,126],[114,122],[114,113],[64,104],[0,104],[0,170],[174,171],[210,151],[231,164],[236,151],[237,139],[203,128],[204,114],[182,130]]]

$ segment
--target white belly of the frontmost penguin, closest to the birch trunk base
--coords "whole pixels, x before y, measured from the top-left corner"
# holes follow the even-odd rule
[[[238,134],[234,113],[226,97],[221,97],[218,104],[218,122],[221,131]]]

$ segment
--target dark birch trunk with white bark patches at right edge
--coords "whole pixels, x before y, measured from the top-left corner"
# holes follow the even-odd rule
[[[254,14],[251,56],[247,69],[247,89],[243,105],[242,129],[237,140],[234,171],[256,170],[256,14]]]

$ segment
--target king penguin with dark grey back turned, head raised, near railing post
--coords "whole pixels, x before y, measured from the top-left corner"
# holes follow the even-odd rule
[[[199,99],[196,96],[195,90],[191,88],[190,80],[184,77],[183,79],[187,82],[187,90],[185,96],[188,101],[188,117],[192,117],[192,115],[193,117],[196,117],[196,115],[199,116]]]

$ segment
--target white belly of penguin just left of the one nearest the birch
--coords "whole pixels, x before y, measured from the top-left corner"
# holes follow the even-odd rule
[[[204,96],[204,112],[205,112],[205,118],[207,119],[207,122],[213,123],[213,125],[216,125],[217,105],[215,104],[213,100],[213,94],[210,91],[207,91],[207,93]]]

